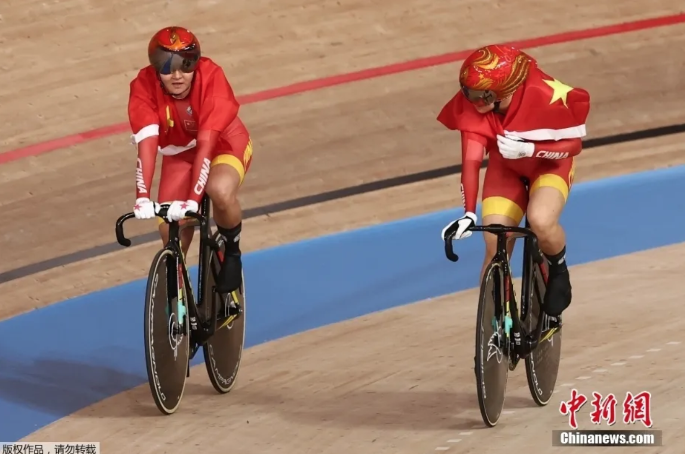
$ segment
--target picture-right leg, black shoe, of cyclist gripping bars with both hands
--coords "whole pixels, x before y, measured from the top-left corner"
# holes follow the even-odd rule
[[[216,289],[219,293],[237,290],[242,284],[242,261],[240,259],[240,231],[242,209],[238,191],[252,157],[252,142],[245,133],[232,135],[232,151],[220,152],[212,160],[206,192],[212,200],[214,222],[226,243],[226,254],[219,272]]]

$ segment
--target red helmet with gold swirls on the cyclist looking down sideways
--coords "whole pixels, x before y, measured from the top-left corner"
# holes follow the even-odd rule
[[[485,46],[466,57],[459,83],[471,103],[488,105],[513,94],[536,64],[530,55],[511,46]]]

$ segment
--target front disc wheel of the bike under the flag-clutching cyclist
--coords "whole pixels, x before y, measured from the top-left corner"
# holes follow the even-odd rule
[[[475,335],[478,405],[488,427],[495,426],[501,415],[509,373],[504,282],[502,265],[491,262],[481,284]]]

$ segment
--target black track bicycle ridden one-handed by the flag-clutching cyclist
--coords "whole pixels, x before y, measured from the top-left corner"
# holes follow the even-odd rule
[[[478,405],[484,423],[494,427],[504,407],[508,372],[521,358],[533,400],[540,406],[549,403],[559,371],[562,320],[542,310],[547,263],[527,219],[525,228],[490,224],[469,230],[497,235],[497,252],[480,285],[475,334]],[[509,241],[519,237],[524,238],[520,317],[507,253]],[[456,262],[452,239],[453,234],[445,239],[445,255]]]

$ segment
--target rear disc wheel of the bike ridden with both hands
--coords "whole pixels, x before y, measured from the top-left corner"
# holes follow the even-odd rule
[[[214,240],[220,246],[220,257],[223,260],[225,251],[223,237],[218,233],[214,235]],[[240,358],[242,358],[242,348],[245,345],[245,274],[242,276],[242,286],[231,295],[219,295],[212,291],[215,285],[214,276],[219,273],[221,263],[211,248],[206,250],[206,292],[203,301],[206,315],[211,315],[209,310],[212,308],[214,299],[214,309],[218,316],[216,319],[216,331],[203,345],[205,365],[210,382],[217,392],[225,394],[232,390],[236,384],[238,369],[240,369]]]

